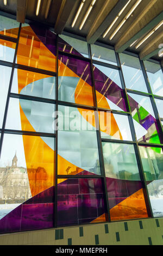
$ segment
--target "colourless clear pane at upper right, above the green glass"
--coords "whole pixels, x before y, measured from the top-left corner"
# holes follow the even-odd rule
[[[120,60],[126,87],[148,93],[139,58],[120,53]]]

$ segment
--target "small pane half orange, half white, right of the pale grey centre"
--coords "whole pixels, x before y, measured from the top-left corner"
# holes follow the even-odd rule
[[[132,141],[128,117],[126,115],[99,112],[101,137]]]

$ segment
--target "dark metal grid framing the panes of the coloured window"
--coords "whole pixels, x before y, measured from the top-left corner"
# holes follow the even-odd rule
[[[2,129],[0,129],[0,134],[1,134],[1,139],[0,139],[0,157],[1,157],[1,151],[2,151],[2,143],[3,143],[3,137],[4,137],[4,133],[10,133],[10,134],[20,134],[20,135],[31,135],[31,136],[42,136],[42,137],[54,137],[54,154],[55,154],[55,166],[54,166],[54,183],[55,183],[55,188],[54,188],[54,194],[55,194],[55,206],[54,206],[54,227],[57,228],[58,224],[57,224],[57,194],[58,194],[58,179],[59,178],[69,178],[69,179],[88,179],[88,178],[94,178],[94,179],[102,179],[102,183],[103,183],[103,192],[104,192],[104,202],[105,202],[105,212],[106,212],[106,222],[110,222],[110,210],[109,210],[109,200],[108,200],[108,196],[107,196],[107,188],[106,188],[106,175],[105,175],[105,168],[104,168],[104,159],[103,159],[103,149],[102,149],[102,142],[111,142],[111,143],[122,143],[122,144],[132,144],[134,145],[134,149],[135,149],[135,155],[136,155],[136,160],[137,160],[137,164],[139,167],[139,173],[140,173],[140,177],[141,177],[141,181],[143,182],[143,187],[145,187],[145,190],[143,190],[144,192],[144,196],[145,196],[145,202],[146,202],[146,206],[147,206],[147,212],[148,212],[148,216],[149,217],[153,217],[153,212],[152,212],[152,207],[151,207],[151,202],[149,200],[149,194],[148,194],[148,190],[147,190],[147,185],[146,185],[146,180],[145,180],[145,174],[143,173],[143,167],[142,167],[142,161],[141,161],[141,156],[140,156],[140,151],[139,151],[139,145],[146,145],[146,146],[153,146],[155,148],[160,148],[163,146],[163,141],[162,141],[162,124],[161,121],[163,121],[163,118],[159,117],[159,113],[158,113],[158,109],[156,108],[156,103],[154,99],[163,99],[163,96],[157,96],[154,95],[151,87],[149,86],[148,83],[148,77],[147,77],[147,73],[145,70],[145,66],[143,64],[143,61],[140,60],[140,64],[142,67],[142,71],[143,71],[143,76],[145,78],[145,82],[146,82],[146,86],[148,89],[148,93],[143,93],[143,92],[139,92],[136,90],[132,90],[132,89],[127,89],[125,86],[125,82],[124,82],[124,78],[123,78],[123,72],[122,72],[122,67],[121,67],[121,63],[120,63],[120,58],[119,58],[119,54],[115,52],[116,54],[116,59],[117,59],[117,66],[111,65],[111,64],[107,64],[107,63],[103,63],[103,62],[99,62],[98,60],[92,60],[92,54],[91,54],[91,45],[87,45],[88,49],[89,49],[89,58],[85,58],[85,57],[80,57],[80,56],[76,56],[75,54],[71,54],[71,53],[67,53],[67,52],[63,52],[63,51],[59,51],[58,49],[58,36],[57,36],[57,72],[52,72],[52,71],[47,71],[47,70],[41,70],[41,69],[37,69],[37,68],[32,68],[29,66],[23,66],[20,64],[16,64],[16,54],[17,54],[17,48],[18,48],[18,41],[20,39],[20,31],[21,31],[21,24],[20,24],[20,28],[18,31],[18,36],[17,39],[15,38],[10,38],[10,36],[4,36],[4,35],[0,35],[1,39],[5,39],[8,41],[12,41],[12,42],[16,42],[16,49],[15,49],[15,56],[14,56],[14,62],[13,63],[9,63],[9,62],[5,62],[3,60],[0,60],[0,65],[4,65],[4,66],[10,66],[12,67],[12,71],[11,71],[11,77],[10,77],[10,84],[9,84],[9,90],[8,90],[8,96],[7,96],[7,102],[6,102],[6,106],[5,106],[5,113],[4,113],[4,118],[3,118],[3,125],[2,125]],[[81,38],[80,38],[81,39]],[[111,50],[114,50],[114,47],[112,46],[105,46],[99,42],[96,43],[99,46],[103,46],[106,48],[110,48]],[[91,79],[92,79],[92,92],[93,92],[93,101],[94,101],[94,106],[84,106],[84,105],[80,105],[77,103],[70,103],[70,102],[65,102],[65,101],[59,101],[58,100],[58,55],[59,53],[62,53],[65,56],[70,56],[73,58],[77,58],[77,59],[82,59],[82,60],[87,60],[87,62],[90,63],[91,66]],[[125,53],[130,54],[132,56],[138,57],[137,54],[133,54],[133,53],[129,53],[127,51],[125,51]],[[152,60],[153,61],[153,60]],[[120,78],[121,78],[121,83],[122,83],[122,89],[124,92],[124,99],[126,102],[126,107],[127,107],[127,111],[123,112],[123,111],[117,111],[117,110],[113,110],[113,109],[104,109],[104,108],[98,108],[97,106],[97,98],[96,98],[96,88],[95,88],[95,80],[93,77],[93,63],[95,64],[99,64],[102,66],[106,66],[112,69],[116,69],[119,70],[119,74],[120,74]],[[160,63],[159,63],[160,64]],[[45,99],[45,98],[40,98],[40,97],[35,97],[35,96],[26,96],[26,95],[21,95],[21,94],[16,94],[16,93],[11,93],[11,85],[12,85],[12,78],[14,75],[14,69],[23,69],[23,70],[28,70],[28,71],[34,71],[34,72],[39,72],[41,74],[46,74],[46,75],[51,75],[51,76],[55,76],[56,77],[56,98],[55,100],[51,100],[51,99]],[[163,72],[163,68],[161,66],[162,72]],[[128,100],[128,92],[129,93],[134,93],[134,94],[138,94],[138,95],[142,95],[142,96],[148,96],[151,99],[151,103],[152,103],[152,107],[153,107],[153,111],[155,114],[155,118],[159,127],[159,138],[160,138],[160,142],[161,144],[154,144],[154,143],[144,143],[144,142],[137,142],[136,136],[135,136],[135,128],[134,128],[134,123],[133,123],[133,118],[131,116],[131,111],[130,111],[130,105],[129,105],[129,100]],[[92,110],[96,110],[96,111],[109,111],[111,113],[117,113],[117,114],[121,114],[121,115],[128,115],[128,119],[129,119],[129,125],[130,125],[130,130],[131,130],[131,136],[133,138],[133,141],[119,141],[116,139],[104,139],[101,138],[101,133],[99,130],[97,130],[97,142],[98,142],[98,151],[99,151],[99,162],[100,162],[100,167],[101,167],[101,175],[58,175],[57,169],[58,169],[58,162],[57,162],[57,156],[58,156],[58,131],[57,129],[55,129],[54,134],[53,133],[43,133],[43,132],[29,132],[29,131],[15,131],[15,130],[7,130],[5,129],[5,123],[6,123],[6,119],[7,119],[7,112],[8,112],[8,106],[9,106],[9,99],[10,97],[12,98],[16,98],[16,99],[26,99],[26,100],[33,100],[33,101],[40,101],[40,102],[46,102],[46,103],[55,103],[55,110],[58,111],[58,105],[64,105],[64,106],[70,106],[70,107],[80,107],[80,108],[85,108],[85,109],[92,109]],[[96,122],[99,123],[98,120],[98,116],[96,115]],[[89,223],[87,223],[89,224]]]

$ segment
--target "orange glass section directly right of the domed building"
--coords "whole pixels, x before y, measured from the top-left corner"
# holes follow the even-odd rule
[[[51,138],[53,139],[53,138]],[[32,196],[54,186],[54,150],[37,136],[23,136]]]

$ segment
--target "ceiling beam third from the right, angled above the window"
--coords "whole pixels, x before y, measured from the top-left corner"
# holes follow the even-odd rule
[[[120,11],[127,2],[128,0],[119,0],[116,5],[112,6],[111,10],[108,10],[109,14],[105,15],[108,3],[109,5],[114,3],[113,1],[105,1],[103,7],[101,8],[101,10],[99,10],[98,17],[96,18],[89,31],[89,34],[86,37],[88,44],[94,44],[97,41],[97,39],[106,31],[111,22],[115,19],[118,13],[120,13]],[[103,19],[103,17],[105,17],[105,19]]]

